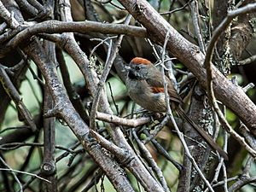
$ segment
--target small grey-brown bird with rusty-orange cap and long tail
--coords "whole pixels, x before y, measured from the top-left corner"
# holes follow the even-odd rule
[[[160,70],[151,61],[142,57],[135,57],[126,65],[127,75],[125,84],[128,95],[141,107],[154,113],[165,113],[167,110],[165,100],[164,81]],[[170,105],[177,115],[191,125],[195,131],[214,150],[218,151],[224,160],[228,160],[228,154],[214,142],[206,131],[189,118],[181,107],[183,99],[178,95],[172,81],[167,77],[167,92],[170,98]]]

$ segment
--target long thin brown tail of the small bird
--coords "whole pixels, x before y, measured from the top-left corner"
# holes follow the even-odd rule
[[[202,130],[198,125],[196,125],[195,122],[189,118],[189,116],[183,111],[180,106],[176,108],[176,112],[181,118],[186,120],[189,125],[191,125],[195,129],[195,131],[208,143],[208,145],[212,149],[217,150],[218,154],[220,154],[224,158],[224,160],[229,160],[228,154],[226,154],[224,150],[213,141],[212,137],[210,137],[206,131]]]

